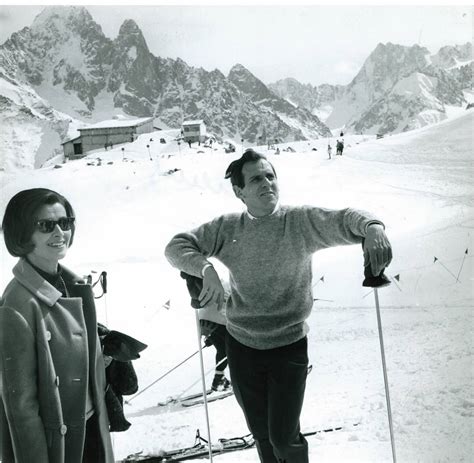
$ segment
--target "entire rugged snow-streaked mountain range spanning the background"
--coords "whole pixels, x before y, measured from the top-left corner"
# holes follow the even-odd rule
[[[466,104],[471,77],[470,43],[433,56],[389,43],[347,86],[266,85],[242,64],[225,76],[154,56],[133,20],[111,40],[85,7],[46,7],[0,46],[0,143],[17,152],[17,167],[39,166],[73,129],[119,114],[154,116],[162,128],[203,119],[218,138],[258,144],[330,137],[340,128],[394,133]]]

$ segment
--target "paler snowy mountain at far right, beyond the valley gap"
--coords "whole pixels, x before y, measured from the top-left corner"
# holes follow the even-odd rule
[[[444,47],[433,57],[418,45],[379,44],[352,82],[325,102],[332,111],[324,121],[354,133],[388,134],[443,120],[448,106],[467,104],[472,62],[471,44]]]

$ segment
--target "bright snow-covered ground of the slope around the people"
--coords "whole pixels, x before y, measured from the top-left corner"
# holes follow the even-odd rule
[[[473,461],[472,124],[471,110],[380,140],[347,136],[344,155],[331,160],[326,139],[281,144],[280,155],[262,147],[278,172],[283,203],[358,207],[386,224],[393,283],[379,296],[400,462]],[[142,389],[197,350],[194,312],[183,280],[164,258],[165,245],[179,231],[243,207],[223,178],[242,147],[233,154],[221,146],[178,148],[174,135],[142,135],[61,168],[0,172],[2,215],[14,193],[34,186],[58,190],[72,202],[77,232],[64,263],[83,274],[108,272],[99,318],[148,344],[135,361]],[[159,143],[161,137],[168,143]],[[287,146],[296,153],[283,151]],[[0,255],[3,287],[15,259],[3,243]],[[314,257],[313,370],[301,425],[303,431],[343,429],[308,437],[311,462],[391,461],[374,296],[361,286],[362,264],[358,246]],[[213,348],[204,349],[206,369],[213,357]],[[193,357],[126,405],[133,425],[113,435],[117,459],[192,445],[197,428],[205,436],[202,407],[156,406],[198,378]],[[209,412],[214,441],[248,432],[233,397],[213,402]],[[215,460],[258,457],[250,449]]]

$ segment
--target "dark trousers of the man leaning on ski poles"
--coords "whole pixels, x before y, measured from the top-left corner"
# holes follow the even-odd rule
[[[255,438],[262,463],[308,463],[300,432],[308,369],[308,341],[275,349],[247,347],[227,334],[235,397]]]

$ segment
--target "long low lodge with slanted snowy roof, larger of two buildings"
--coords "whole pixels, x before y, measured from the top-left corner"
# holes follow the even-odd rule
[[[80,135],[62,143],[64,156],[79,159],[89,151],[128,143],[142,133],[153,132],[153,117],[111,119],[78,129]]]

